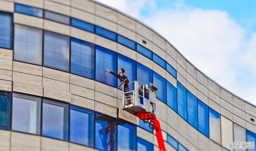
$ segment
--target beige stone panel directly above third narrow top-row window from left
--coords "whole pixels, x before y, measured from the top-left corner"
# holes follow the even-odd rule
[[[71,17],[95,24],[95,15],[71,7]]]

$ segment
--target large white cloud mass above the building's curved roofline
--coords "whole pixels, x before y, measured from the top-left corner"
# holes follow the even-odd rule
[[[148,3],[145,0],[102,2],[139,19],[141,7]],[[140,20],[168,39],[207,76],[256,104],[256,33],[246,39],[244,27],[226,11],[189,8],[182,1],[172,9],[157,10],[152,2],[149,6],[154,13]]]

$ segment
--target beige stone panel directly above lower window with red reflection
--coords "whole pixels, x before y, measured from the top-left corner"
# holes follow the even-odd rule
[[[117,118],[117,109],[95,101],[95,111]]]

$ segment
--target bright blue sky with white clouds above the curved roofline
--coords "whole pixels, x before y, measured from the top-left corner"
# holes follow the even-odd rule
[[[253,0],[99,0],[152,27],[211,79],[256,104]]]

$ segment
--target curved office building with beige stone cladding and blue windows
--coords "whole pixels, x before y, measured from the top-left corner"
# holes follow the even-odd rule
[[[168,151],[256,150],[255,105],[140,21],[87,0],[0,0],[0,10],[0,151],[159,150],[148,123],[122,110],[105,72],[120,68],[158,87]]]

